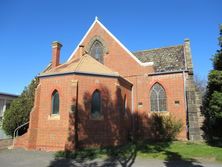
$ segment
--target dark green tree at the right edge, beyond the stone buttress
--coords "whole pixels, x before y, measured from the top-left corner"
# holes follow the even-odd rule
[[[205,122],[203,129],[209,141],[222,141],[222,25],[219,36],[220,49],[213,56],[213,70],[208,75],[204,99]]]

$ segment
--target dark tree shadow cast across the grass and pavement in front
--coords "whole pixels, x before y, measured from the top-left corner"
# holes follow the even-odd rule
[[[100,149],[82,149],[76,152],[60,152],[49,167],[57,166],[95,166],[95,167],[131,167],[138,153],[149,155],[161,153],[165,156],[163,163],[166,167],[202,167],[195,159],[183,158],[177,152],[169,151],[171,142],[138,142],[128,143],[117,147],[106,147]],[[61,158],[62,157],[62,158]],[[149,157],[149,156],[148,156]],[[155,158],[155,157],[154,157]],[[149,160],[144,159],[149,163]],[[148,165],[148,164],[147,164]]]

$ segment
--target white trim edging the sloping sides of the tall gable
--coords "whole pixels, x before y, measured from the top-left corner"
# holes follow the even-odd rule
[[[141,66],[151,66],[153,65],[153,62],[141,62],[138,60],[138,58],[133,55],[96,17],[95,21],[93,22],[93,24],[90,26],[90,28],[88,29],[88,31],[86,32],[86,34],[84,35],[84,37],[82,38],[82,40],[79,42],[79,44],[77,45],[77,47],[75,48],[75,50],[73,51],[73,53],[71,54],[71,56],[69,57],[69,59],[67,60],[70,61],[72,60],[72,58],[74,57],[75,53],[78,50],[79,45],[81,45],[83,43],[83,41],[85,40],[85,38],[87,37],[87,35],[90,33],[90,31],[93,29],[93,27],[99,24],[101,28],[103,28],[138,64],[140,64]]]

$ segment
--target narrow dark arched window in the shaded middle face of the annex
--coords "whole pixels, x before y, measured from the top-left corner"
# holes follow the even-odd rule
[[[91,114],[93,118],[101,116],[101,95],[98,90],[95,90],[92,94]]]

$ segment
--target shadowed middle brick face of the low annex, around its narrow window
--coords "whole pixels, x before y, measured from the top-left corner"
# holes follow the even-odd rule
[[[125,142],[131,127],[129,118],[122,117],[122,111],[118,111],[117,101],[122,101],[125,94],[130,99],[130,88],[115,78],[77,76],[77,79],[79,145],[105,146]],[[93,119],[90,115],[91,95],[96,89],[100,91],[102,97],[103,118],[101,119]],[[131,101],[128,105],[131,105]]]

